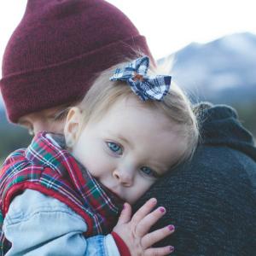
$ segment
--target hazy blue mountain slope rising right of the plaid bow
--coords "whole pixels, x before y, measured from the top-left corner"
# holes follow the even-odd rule
[[[228,104],[256,102],[256,35],[252,33],[192,43],[168,59],[173,61],[173,80],[195,98]]]

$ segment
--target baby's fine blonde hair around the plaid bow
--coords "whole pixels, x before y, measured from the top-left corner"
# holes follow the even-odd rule
[[[131,62],[131,60],[128,61]],[[117,67],[124,67],[126,64],[126,62],[119,63],[103,71],[94,81],[83,101],[78,105],[83,112],[84,125],[91,119],[101,119],[102,115],[120,99],[134,96],[138,101],[141,101],[126,82],[109,80]],[[148,75],[154,75],[155,73],[160,74],[158,68],[149,67]],[[141,102],[145,108],[156,108],[164,113],[174,125],[177,125],[178,134],[185,139],[187,147],[176,165],[183,160],[190,159],[198,143],[199,131],[195,113],[193,113],[189,98],[185,96],[183,90],[172,82],[171,88],[162,102],[153,100]]]

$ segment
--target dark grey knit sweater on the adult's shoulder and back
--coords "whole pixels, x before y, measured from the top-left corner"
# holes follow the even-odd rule
[[[174,246],[172,255],[256,255],[253,137],[234,109],[198,108],[202,142],[195,157],[155,183],[137,207],[150,197],[166,207],[157,227],[174,224],[176,232],[159,245]]]

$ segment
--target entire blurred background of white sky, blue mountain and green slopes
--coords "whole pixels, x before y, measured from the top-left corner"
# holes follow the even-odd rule
[[[173,80],[194,102],[231,105],[256,137],[254,1],[108,2],[121,9],[146,36],[156,60],[172,60]],[[25,8],[26,0],[0,1],[1,63]],[[26,147],[30,140],[25,129],[9,124],[0,95],[0,162],[15,148]]]

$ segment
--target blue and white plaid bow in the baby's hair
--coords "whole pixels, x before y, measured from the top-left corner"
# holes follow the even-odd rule
[[[128,63],[123,69],[117,68],[110,78],[111,81],[126,81],[131,90],[139,96],[143,102],[148,99],[162,101],[171,85],[171,76],[157,75],[147,76],[149,66],[148,56],[143,56]]]

